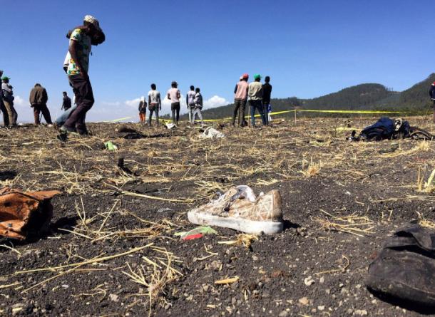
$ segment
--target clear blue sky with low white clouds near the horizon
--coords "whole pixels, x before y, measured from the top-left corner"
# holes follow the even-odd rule
[[[66,32],[91,14],[106,42],[91,56],[89,120],[136,119],[150,83],[165,93],[172,80],[183,95],[198,85],[207,107],[222,105],[242,73],[271,76],[277,98],[359,83],[404,90],[434,72],[433,11],[424,0],[0,0],[0,68],[19,96],[19,120],[32,118],[36,82],[56,116],[61,92],[72,95],[62,70]]]

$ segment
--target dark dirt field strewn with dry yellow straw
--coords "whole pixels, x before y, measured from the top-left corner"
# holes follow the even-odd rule
[[[186,125],[131,124],[146,137],[129,140],[119,125],[91,124],[92,137],[65,143],[52,128],[1,129],[1,187],[63,194],[45,237],[0,239],[0,315],[419,316],[364,278],[392,232],[434,219],[435,144],[347,142],[374,121],[224,127],[220,140]],[[188,210],[232,185],[280,189],[285,231],[175,236],[196,227]]]

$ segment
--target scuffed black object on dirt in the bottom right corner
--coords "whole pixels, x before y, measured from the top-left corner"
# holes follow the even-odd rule
[[[369,265],[366,286],[411,308],[435,307],[435,230],[411,225],[387,239]]]

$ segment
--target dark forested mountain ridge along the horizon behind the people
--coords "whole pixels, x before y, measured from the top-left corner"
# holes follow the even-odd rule
[[[295,107],[312,110],[402,110],[425,113],[431,106],[429,87],[435,73],[402,92],[389,90],[379,83],[363,83],[312,99],[272,98],[272,110],[292,110]],[[232,116],[233,104],[203,111],[208,119]],[[183,115],[187,117],[187,115]]]

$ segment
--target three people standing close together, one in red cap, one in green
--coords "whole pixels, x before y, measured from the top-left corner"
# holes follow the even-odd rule
[[[270,85],[270,77],[265,77],[265,83],[261,83],[260,74],[254,75],[254,81],[247,83],[249,75],[247,73],[240,76],[239,82],[234,89],[234,112],[232,114],[232,125],[235,125],[235,119],[238,118],[237,124],[240,127],[245,127],[245,112],[247,101],[250,105],[251,125],[255,127],[255,110],[260,113],[262,125],[269,125],[272,107],[270,105],[270,96],[272,95],[272,85]]]

